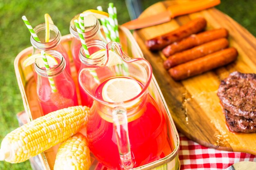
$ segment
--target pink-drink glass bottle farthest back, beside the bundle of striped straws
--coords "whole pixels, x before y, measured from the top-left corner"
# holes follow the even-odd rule
[[[72,42],[71,42],[71,53],[72,57],[76,66],[76,71],[78,72],[80,69],[81,62],[79,60],[79,52],[81,47],[81,41],[79,39],[79,34],[76,31],[76,26],[74,24],[74,20],[78,19],[79,15],[74,16],[74,18],[70,22],[70,33],[72,35]],[[85,42],[87,43],[89,40],[101,40],[105,42],[103,35],[101,34],[99,21],[98,19],[90,14],[84,17],[85,18],[85,32],[83,33],[83,37]],[[86,24],[86,18],[90,18],[90,23],[93,24]]]

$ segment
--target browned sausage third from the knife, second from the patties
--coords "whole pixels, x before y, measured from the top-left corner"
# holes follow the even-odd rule
[[[170,57],[168,57],[167,60],[164,61],[164,68],[168,70],[171,67],[177,66],[185,62],[189,62],[191,60],[195,60],[216,51],[220,51],[221,49],[225,49],[228,46],[229,41],[226,38],[207,42],[192,49],[171,55]]]

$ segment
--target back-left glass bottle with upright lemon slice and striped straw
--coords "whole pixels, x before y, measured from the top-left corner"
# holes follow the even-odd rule
[[[33,54],[40,53],[40,51],[45,50],[56,50],[60,52],[66,61],[67,71],[71,75],[70,60],[67,55],[67,51],[61,44],[61,32],[58,30],[58,27],[54,24],[49,24],[49,30],[50,40],[49,42],[45,42],[45,24],[39,24],[34,28],[34,31],[40,39],[40,42],[36,41],[32,36],[30,36],[30,42],[34,47]]]

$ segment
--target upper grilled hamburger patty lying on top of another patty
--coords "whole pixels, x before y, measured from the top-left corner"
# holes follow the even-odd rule
[[[232,115],[256,118],[256,74],[231,73],[221,81],[217,95]]]

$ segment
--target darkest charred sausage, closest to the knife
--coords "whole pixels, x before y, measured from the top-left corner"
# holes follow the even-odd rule
[[[204,18],[197,18],[180,26],[180,28],[171,31],[170,33],[158,36],[151,40],[147,40],[145,43],[150,50],[160,50],[175,41],[179,41],[182,38],[188,37],[191,34],[202,31],[205,26],[206,20]]]

